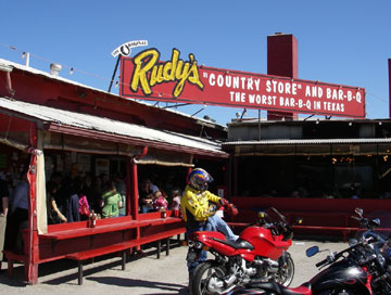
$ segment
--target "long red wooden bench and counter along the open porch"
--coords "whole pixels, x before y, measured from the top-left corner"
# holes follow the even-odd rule
[[[80,278],[83,260],[126,252],[152,242],[157,242],[157,258],[160,258],[161,241],[167,241],[168,255],[169,238],[185,232],[182,222],[178,217],[160,218],[160,214],[146,214],[141,216],[141,220],[133,220],[130,217],[97,220],[96,228],[88,228],[87,221],[49,226],[48,233],[38,235],[39,256],[36,256],[35,264],[37,266],[63,258],[77,260],[80,261]],[[135,235],[136,232],[139,232],[139,238]],[[27,255],[12,252],[5,254],[8,254],[9,277],[13,277],[13,262],[22,261],[25,265],[26,279]],[[126,257],[123,259],[125,261]]]

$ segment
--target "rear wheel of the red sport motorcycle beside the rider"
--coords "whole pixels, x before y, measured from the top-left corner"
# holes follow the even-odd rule
[[[214,260],[206,260],[200,264],[191,277],[191,294],[222,294],[224,291],[223,277],[225,273],[225,268]]]

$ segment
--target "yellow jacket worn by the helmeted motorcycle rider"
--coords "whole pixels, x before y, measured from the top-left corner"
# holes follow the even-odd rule
[[[184,220],[192,223],[194,221],[206,221],[207,217],[215,214],[214,210],[210,211],[209,202],[218,203],[219,196],[211,193],[210,191],[200,192],[187,185],[184,195],[180,200]],[[188,216],[188,215],[191,216]]]

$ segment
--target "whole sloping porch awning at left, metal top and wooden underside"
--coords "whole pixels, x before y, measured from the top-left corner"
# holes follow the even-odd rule
[[[216,141],[7,98],[0,98],[1,118],[4,124],[0,138],[21,145],[29,145],[28,136],[13,126],[13,121],[37,124],[38,129],[43,130],[43,150],[134,156],[142,146],[148,146],[151,152],[143,163],[171,166],[189,166],[192,155],[229,156]]]

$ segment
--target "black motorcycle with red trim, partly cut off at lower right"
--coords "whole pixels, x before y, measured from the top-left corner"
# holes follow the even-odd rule
[[[366,230],[349,242],[349,247],[330,253],[316,264],[319,269],[327,267],[308,282],[295,288],[285,287],[270,281],[252,281],[244,288],[231,294],[320,294],[357,295],[391,294],[391,241],[375,231],[379,219],[367,219],[363,210],[354,216]],[[318,246],[306,251],[308,257],[319,253]]]

